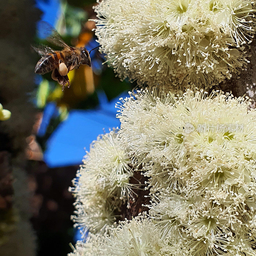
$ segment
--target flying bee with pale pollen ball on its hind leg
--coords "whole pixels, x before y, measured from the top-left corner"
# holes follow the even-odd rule
[[[67,45],[56,29],[52,28],[47,22],[43,22],[47,26],[46,39],[48,42],[62,47],[61,51],[55,51],[46,45],[32,46],[33,49],[38,52],[42,58],[37,62],[35,73],[44,75],[52,71],[52,79],[58,81],[62,85],[62,91],[67,84],[70,86],[68,79],[68,72],[79,68],[80,65],[88,65],[91,67],[90,52],[84,47],[71,47]]]

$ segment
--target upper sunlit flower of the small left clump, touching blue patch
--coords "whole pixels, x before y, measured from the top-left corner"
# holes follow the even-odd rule
[[[132,159],[115,131],[99,136],[92,143],[81,172],[92,172],[99,186],[110,194],[117,193],[124,198],[131,193],[129,178],[133,175]]]

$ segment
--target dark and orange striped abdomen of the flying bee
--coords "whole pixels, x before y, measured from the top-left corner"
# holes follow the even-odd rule
[[[64,60],[62,52],[52,52],[43,56],[36,64],[35,73],[45,74],[59,66],[59,60]]]

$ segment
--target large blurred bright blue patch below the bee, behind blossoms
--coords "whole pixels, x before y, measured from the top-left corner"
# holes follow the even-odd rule
[[[103,129],[108,132],[109,128],[120,127],[115,105],[119,98],[129,97],[129,94],[124,92],[110,102],[103,92],[100,92],[98,97],[98,109],[71,110],[68,118],[54,130],[44,152],[44,161],[49,167],[82,164],[85,149],[89,151],[90,144],[103,133]],[[45,118],[51,118],[54,111],[50,107],[45,109],[47,112],[44,113],[42,123],[47,124],[49,120]]]

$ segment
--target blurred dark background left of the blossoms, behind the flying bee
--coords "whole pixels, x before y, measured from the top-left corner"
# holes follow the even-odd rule
[[[135,86],[121,82],[111,68],[101,65],[104,55],[98,49],[91,55],[93,72],[86,67],[76,70],[70,79],[71,87],[64,92],[51,74],[35,75],[40,57],[31,44],[46,43],[38,25],[40,20],[62,32],[66,43],[92,48],[97,46],[91,31],[95,24],[88,21],[95,18],[93,4],[91,0],[1,3],[0,103],[12,113],[9,120],[0,121],[1,256],[58,256],[72,251],[69,243],[75,244],[79,232],[70,220],[74,199],[68,187],[72,186],[85,151],[70,142],[80,152],[75,158],[75,149],[68,148],[69,144],[62,146],[65,141],[58,137],[61,127],[67,121],[70,125],[72,113],[87,118],[88,110],[105,116],[95,129],[116,126],[116,121],[111,121],[115,120],[114,101]],[[72,127],[81,121],[72,120]],[[88,120],[84,133],[79,135],[86,140],[84,144],[96,139],[88,132],[95,120]],[[67,133],[70,141],[77,140],[76,132]],[[88,149],[87,144],[84,146]]]

